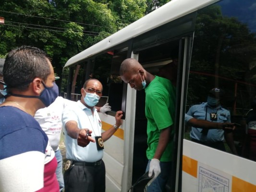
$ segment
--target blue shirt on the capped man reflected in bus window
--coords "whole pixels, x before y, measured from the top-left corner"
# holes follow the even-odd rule
[[[217,114],[215,120],[211,120],[211,114]],[[190,115],[198,120],[208,120],[211,122],[231,122],[230,112],[222,108],[220,105],[217,108],[211,108],[207,102],[192,106],[187,115]],[[202,133],[201,128],[192,127],[190,132],[191,139],[201,142],[214,143],[224,140],[224,131],[220,129],[209,129],[207,134]]]

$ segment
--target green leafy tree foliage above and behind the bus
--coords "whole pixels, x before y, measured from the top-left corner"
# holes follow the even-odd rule
[[[146,0],[2,0],[0,55],[22,45],[41,48],[61,76],[69,58],[145,12]]]

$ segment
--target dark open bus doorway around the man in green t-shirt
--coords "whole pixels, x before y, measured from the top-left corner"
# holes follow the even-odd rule
[[[185,79],[188,78],[188,68],[191,56],[192,36],[174,38],[164,43],[155,44],[148,48],[136,51],[132,57],[137,59],[147,72],[170,80],[170,84],[176,87],[176,111],[173,131],[176,138],[171,138],[174,143],[173,168],[166,191],[173,191],[178,183],[181,171],[181,139],[182,131],[179,128],[180,116],[183,117],[185,105],[183,98],[185,92]],[[183,110],[182,110],[183,109]],[[181,121],[182,122],[182,121]],[[145,91],[136,91],[136,110],[134,126],[134,158],[133,158],[133,180],[134,183],[146,171],[148,159],[146,157],[147,120],[145,116]],[[178,142],[179,141],[179,142]],[[171,152],[170,152],[171,153]],[[176,180],[177,179],[177,180]],[[177,182],[177,183],[176,183]],[[177,184],[178,186],[178,184]]]

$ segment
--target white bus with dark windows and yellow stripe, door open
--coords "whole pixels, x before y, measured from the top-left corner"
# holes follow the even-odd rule
[[[145,92],[123,83],[122,60],[135,58],[155,75],[177,54],[173,168],[167,192],[256,192],[256,162],[242,157],[245,114],[256,95],[256,0],[172,0],[154,12],[70,58],[67,98],[80,94],[85,80],[103,84],[99,105],[103,131],[124,112],[121,128],[104,145],[106,191],[127,192],[146,170]],[[205,102],[208,91],[225,91],[222,106],[232,122],[238,156],[190,141],[184,114]]]

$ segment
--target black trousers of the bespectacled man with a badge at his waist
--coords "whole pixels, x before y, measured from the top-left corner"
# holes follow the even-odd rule
[[[65,192],[105,192],[105,164],[71,165],[64,173]]]

